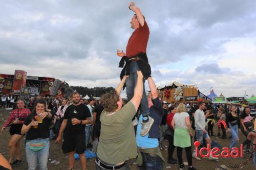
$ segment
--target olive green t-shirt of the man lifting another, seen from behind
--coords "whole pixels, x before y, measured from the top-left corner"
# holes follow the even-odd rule
[[[106,163],[118,164],[136,158],[137,146],[132,118],[136,109],[130,101],[119,111],[100,115],[101,129],[97,156]]]

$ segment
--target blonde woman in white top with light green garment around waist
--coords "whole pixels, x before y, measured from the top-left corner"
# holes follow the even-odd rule
[[[177,113],[172,120],[172,127],[174,127],[174,145],[177,147],[177,157],[180,164],[180,169],[185,166],[182,160],[182,149],[185,148],[188,161],[188,169],[195,170],[192,166],[192,151],[191,151],[191,136],[192,128],[190,125],[189,114],[186,112],[186,106],[181,103],[177,107]]]

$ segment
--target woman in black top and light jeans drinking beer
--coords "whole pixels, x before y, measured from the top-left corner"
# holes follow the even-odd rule
[[[48,169],[51,118],[52,114],[46,112],[46,101],[40,98],[24,122],[21,132],[27,133],[26,155],[30,170],[36,169],[37,159],[40,169]]]

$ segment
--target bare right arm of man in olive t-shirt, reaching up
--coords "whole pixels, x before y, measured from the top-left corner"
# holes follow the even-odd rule
[[[136,110],[138,110],[140,106],[140,101],[142,99],[142,94],[143,94],[143,75],[141,71],[137,71],[137,74],[138,74],[137,85],[135,87],[134,95],[131,100]]]

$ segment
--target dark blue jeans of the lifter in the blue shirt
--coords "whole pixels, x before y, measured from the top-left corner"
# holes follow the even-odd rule
[[[162,162],[161,158],[157,155],[151,155],[146,153],[141,153],[143,158],[143,163],[141,166],[138,166],[140,170],[161,170]]]

